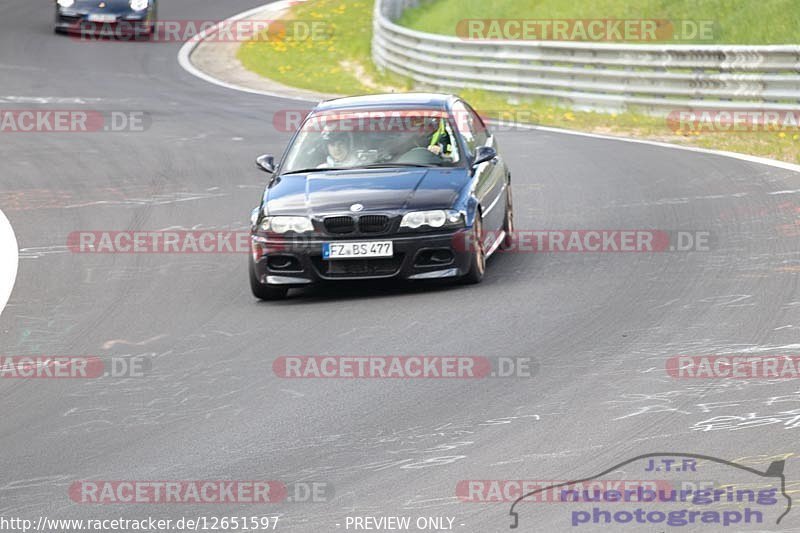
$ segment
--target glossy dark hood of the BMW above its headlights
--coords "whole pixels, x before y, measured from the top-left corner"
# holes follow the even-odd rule
[[[311,172],[281,176],[267,190],[270,215],[441,209],[452,206],[469,182],[463,168]]]

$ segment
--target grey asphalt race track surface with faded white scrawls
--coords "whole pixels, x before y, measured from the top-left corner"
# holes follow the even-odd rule
[[[221,19],[255,5],[171,0],[160,17]],[[279,514],[279,529],[311,532],[341,530],[349,515],[399,514],[454,516],[457,530],[486,532],[507,530],[509,506],[459,503],[459,480],[581,478],[656,451],[755,457],[750,464],[764,469],[769,457],[788,456],[787,479],[800,480],[800,428],[693,429],[713,416],[796,409],[796,383],[664,372],[679,354],[800,350],[797,174],[505,132],[519,228],[706,230],[712,250],[505,254],[474,287],[348,285],[259,303],[244,256],[72,254],[66,236],[245,227],[264,185],[253,159],[280,153],[288,138],[273,114],[308,106],[198,80],[179,67],[179,43],[76,42],[53,34],[51,18],[47,0],[0,4],[2,107],[141,110],[152,126],[2,135],[0,209],[21,251],[0,347],[142,355],[153,370],[124,380],[0,381],[2,515]],[[273,375],[274,358],[312,354],[532,356],[540,368],[524,380]],[[720,402],[713,412],[701,405],[711,402]],[[457,458],[435,459],[445,456]],[[79,505],[67,489],[80,479],[313,479],[333,484],[336,496],[255,508]],[[523,522],[534,526],[574,529]],[[798,512],[780,526],[798,527]]]

